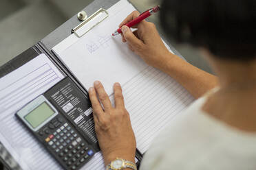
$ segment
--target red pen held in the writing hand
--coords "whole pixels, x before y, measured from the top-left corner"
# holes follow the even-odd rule
[[[149,17],[149,16],[151,16],[152,14],[158,12],[159,10],[160,10],[160,6],[157,5],[156,7],[151,8],[151,9],[149,9],[149,10],[143,12],[143,13],[140,14],[136,19],[130,21],[129,23],[127,23],[127,24],[125,24],[125,25],[127,25],[127,27],[133,27],[134,25],[136,25],[136,24],[140,23],[141,21],[147,19],[147,17]],[[118,29],[116,30],[116,32],[114,32],[114,33],[112,34],[112,36],[116,36],[116,35],[118,35],[118,34],[120,34],[120,33],[122,33],[122,30],[121,30],[121,28],[118,28]]]

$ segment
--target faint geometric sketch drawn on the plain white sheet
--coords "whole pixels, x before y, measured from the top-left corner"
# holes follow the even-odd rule
[[[111,40],[111,35],[97,35],[94,40],[90,40],[85,46],[89,53],[96,52],[100,47],[107,49],[109,47],[109,42]]]

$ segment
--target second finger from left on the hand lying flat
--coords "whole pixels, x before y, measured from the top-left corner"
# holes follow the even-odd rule
[[[107,95],[103,85],[96,81],[94,82],[94,88],[96,93],[98,94],[98,99],[100,99],[101,103],[104,106],[105,110],[110,110],[112,108],[111,101],[109,100],[109,96]]]

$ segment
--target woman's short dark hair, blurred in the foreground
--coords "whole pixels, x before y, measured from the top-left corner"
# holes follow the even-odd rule
[[[256,59],[256,0],[164,0],[160,21],[178,42],[222,59]]]

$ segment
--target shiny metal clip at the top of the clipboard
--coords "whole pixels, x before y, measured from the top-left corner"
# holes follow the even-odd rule
[[[77,27],[72,29],[72,33],[76,34],[79,38],[89,32],[96,25],[107,19],[109,13],[107,10],[100,8],[94,14],[89,16],[83,23],[79,24]]]

